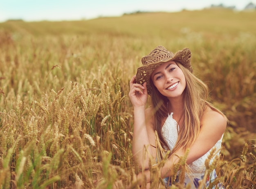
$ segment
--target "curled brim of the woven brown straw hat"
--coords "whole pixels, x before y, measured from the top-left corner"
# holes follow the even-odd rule
[[[146,87],[148,94],[151,94],[152,87],[150,85],[150,77],[154,69],[159,67],[161,64],[164,62],[169,62],[169,61],[177,61],[182,64],[186,69],[189,69],[189,71],[192,73],[193,69],[191,66],[191,51],[188,48],[184,48],[180,51],[177,51],[172,58],[167,58],[160,60],[158,62],[150,62],[148,64],[145,64],[137,69],[137,74],[136,74],[136,83],[143,84],[146,82]]]

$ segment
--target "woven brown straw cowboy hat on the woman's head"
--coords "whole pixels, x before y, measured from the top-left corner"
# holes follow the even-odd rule
[[[175,54],[171,51],[168,51],[163,46],[157,46],[153,51],[151,51],[147,56],[141,58],[142,66],[137,69],[136,82],[143,84],[147,82],[148,94],[151,93],[150,86],[150,76],[154,69],[159,67],[162,63],[168,61],[177,61],[180,62],[186,69],[191,73],[193,72],[191,66],[191,51],[188,48],[184,48],[180,51],[177,51]]]

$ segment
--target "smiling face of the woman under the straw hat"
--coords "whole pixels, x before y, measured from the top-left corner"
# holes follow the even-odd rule
[[[163,63],[151,74],[151,80],[157,90],[167,98],[182,96],[186,88],[184,73],[174,61]]]

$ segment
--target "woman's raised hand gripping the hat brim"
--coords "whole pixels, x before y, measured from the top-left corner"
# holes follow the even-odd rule
[[[137,84],[135,78],[136,76],[133,76],[130,80],[130,101],[133,107],[145,107],[148,98],[146,82],[143,85]]]

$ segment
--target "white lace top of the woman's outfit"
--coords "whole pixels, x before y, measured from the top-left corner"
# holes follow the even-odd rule
[[[168,114],[168,117],[166,118],[166,121],[164,122],[164,125],[162,127],[162,134],[170,150],[173,149],[177,141],[179,130],[180,130],[179,125],[177,125],[177,122],[173,119],[173,113]],[[214,147],[216,147],[216,150],[220,151],[221,142],[222,142],[222,138],[218,140],[218,142],[214,145]],[[205,172],[204,162],[209,156],[210,151],[211,149],[207,153],[205,153],[202,157],[200,157],[199,159],[189,164],[191,173],[189,174],[187,173],[186,177],[191,177],[191,176],[198,177],[198,176],[204,175],[204,172]],[[219,155],[219,153],[216,155]]]

